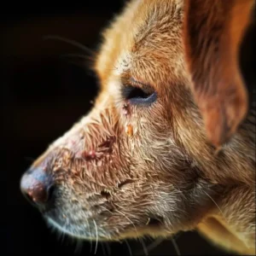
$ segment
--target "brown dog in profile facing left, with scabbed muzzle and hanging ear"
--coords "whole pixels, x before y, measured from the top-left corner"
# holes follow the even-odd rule
[[[50,224],[100,240],[198,229],[255,253],[255,113],[239,66],[253,6],[127,4],[96,56],[95,107],[21,179]]]

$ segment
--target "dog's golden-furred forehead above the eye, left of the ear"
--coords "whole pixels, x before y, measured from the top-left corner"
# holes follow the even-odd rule
[[[182,1],[131,1],[128,7],[104,33],[96,59],[103,90],[122,73],[147,84],[177,79],[183,72]]]

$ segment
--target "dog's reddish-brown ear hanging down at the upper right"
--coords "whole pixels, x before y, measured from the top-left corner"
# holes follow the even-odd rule
[[[183,40],[192,92],[209,141],[229,140],[247,114],[239,65],[255,0],[185,0]]]

